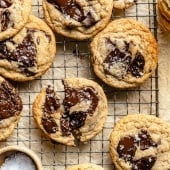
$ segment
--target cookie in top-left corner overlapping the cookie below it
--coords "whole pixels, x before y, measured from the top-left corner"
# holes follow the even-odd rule
[[[31,0],[0,1],[0,41],[14,36],[28,21]]]

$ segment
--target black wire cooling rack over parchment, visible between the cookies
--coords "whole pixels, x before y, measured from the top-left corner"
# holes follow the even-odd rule
[[[33,0],[32,13],[43,19],[42,3]],[[144,23],[157,39],[157,14],[155,0],[138,0],[133,7],[113,11],[112,19],[130,17]],[[130,90],[117,90],[102,83],[93,73],[89,43],[75,41],[56,35],[57,56],[49,71],[34,81],[14,83],[23,100],[23,115],[11,137],[0,142],[0,146],[24,145],[40,157],[46,170],[65,170],[69,165],[78,163],[96,163],[113,170],[109,155],[109,135],[114,123],[130,113],[146,113],[159,116],[158,108],[158,70],[140,87]],[[104,89],[109,105],[109,115],[103,131],[86,144],[67,147],[54,144],[44,138],[32,118],[32,103],[42,87],[52,84],[58,93],[62,93],[61,79],[67,77],[86,77],[97,81]]]

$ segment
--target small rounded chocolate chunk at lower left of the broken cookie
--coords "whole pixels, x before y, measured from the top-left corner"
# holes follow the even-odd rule
[[[42,125],[47,133],[56,133],[58,128],[55,120],[47,116],[42,118]]]

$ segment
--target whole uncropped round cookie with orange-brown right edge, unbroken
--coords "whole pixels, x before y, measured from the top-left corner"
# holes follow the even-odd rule
[[[91,42],[96,75],[115,88],[131,88],[154,73],[158,45],[151,32],[132,19],[112,21]]]

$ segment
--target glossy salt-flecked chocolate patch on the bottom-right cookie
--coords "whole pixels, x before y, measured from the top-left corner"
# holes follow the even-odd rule
[[[117,146],[117,152],[121,159],[129,161],[132,164],[132,170],[150,170],[155,161],[156,156],[146,156],[139,160],[134,160],[137,147],[141,150],[149,149],[150,147],[157,147],[150,134],[146,130],[141,130],[137,136],[125,136],[122,138]]]

